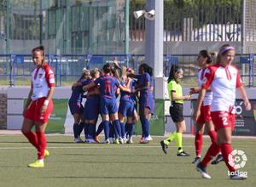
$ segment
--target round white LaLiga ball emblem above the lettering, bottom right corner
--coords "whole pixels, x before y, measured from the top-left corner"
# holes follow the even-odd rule
[[[247,156],[243,150],[233,150],[229,155],[229,164],[235,169],[244,167],[246,162]]]

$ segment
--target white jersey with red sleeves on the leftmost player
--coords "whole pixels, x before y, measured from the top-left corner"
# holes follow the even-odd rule
[[[43,67],[32,71],[32,100],[46,97],[50,87],[55,86],[55,76],[50,66],[44,63]]]

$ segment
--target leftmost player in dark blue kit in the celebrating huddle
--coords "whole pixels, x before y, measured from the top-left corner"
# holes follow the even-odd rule
[[[75,143],[82,143],[83,140],[80,138],[80,133],[84,129],[84,122],[81,122],[81,116],[84,110],[82,105],[83,99],[83,86],[87,84],[90,80],[90,71],[84,69],[81,77],[72,86],[72,94],[70,99],[68,100],[69,110],[73,115],[74,123],[73,123],[73,135]]]

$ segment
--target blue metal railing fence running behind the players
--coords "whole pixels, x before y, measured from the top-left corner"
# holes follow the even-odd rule
[[[143,63],[143,54],[67,54],[67,55],[46,55],[46,61],[55,71],[57,86],[70,85],[81,75],[84,67],[91,69],[102,68],[105,63],[113,63],[117,59],[120,65],[138,70]],[[168,77],[172,64],[183,67],[184,80],[191,80],[197,76],[199,66],[197,54],[164,54],[164,75]],[[255,54],[236,54],[234,65],[238,67],[243,82],[247,87],[255,87]],[[34,68],[31,54],[0,54],[0,80],[1,84],[20,85],[29,84],[30,75]]]

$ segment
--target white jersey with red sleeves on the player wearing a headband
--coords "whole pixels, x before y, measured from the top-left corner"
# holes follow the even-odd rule
[[[211,111],[235,112],[236,88],[242,86],[239,71],[233,65],[211,65],[205,71],[201,88],[212,90]]]

